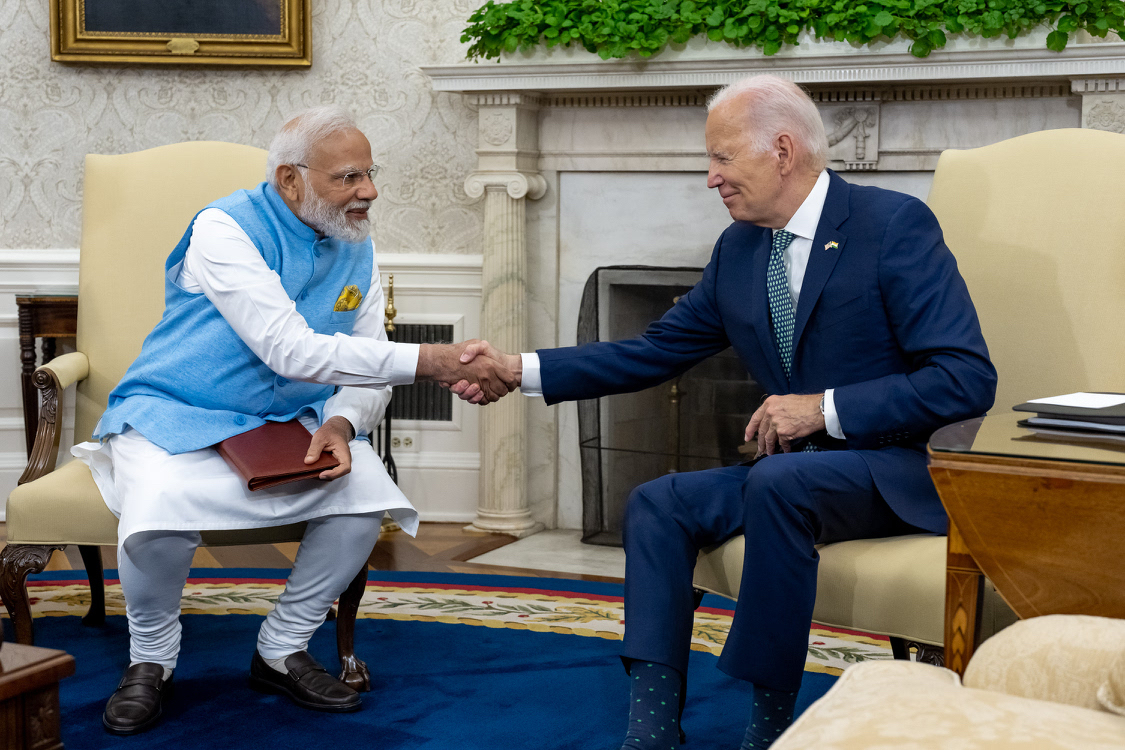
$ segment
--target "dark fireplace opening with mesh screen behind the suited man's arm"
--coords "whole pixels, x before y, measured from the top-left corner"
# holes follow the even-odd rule
[[[702,278],[698,268],[611,265],[586,281],[578,343],[645,332]],[[578,401],[583,537],[621,546],[634,487],[666,473],[738,463],[762,388],[731,350],[634,394]]]

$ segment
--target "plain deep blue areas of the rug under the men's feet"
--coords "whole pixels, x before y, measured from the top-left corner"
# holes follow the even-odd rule
[[[111,577],[112,571],[107,572]],[[192,576],[218,572],[198,570]],[[276,578],[278,572],[269,571],[269,577]],[[223,578],[262,573],[222,571]],[[372,573],[372,579],[376,576],[388,581],[471,580],[497,587],[621,593],[621,587],[612,584],[557,579],[382,572]],[[65,649],[76,660],[76,674],[60,686],[63,741],[69,750],[333,746],[615,750],[623,738],[628,680],[616,656],[620,643],[614,641],[435,622],[360,620],[357,651],[371,669],[374,688],[364,694],[361,711],[335,715],[305,711],[286,698],[260,695],[246,687],[260,616],[184,615],[182,620],[183,647],[173,701],[156,729],[133,738],[112,737],[101,728],[105,702],[128,660],[125,618],[111,616],[104,629],[83,627],[72,616],[36,620],[36,643]],[[309,650],[334,671],[335,627],[322,627]],[[748,689],[720,672],[716,661],[709,653],[692,653],[685,750],[732,750],[741,740]],[[798,712],[835,679],[807,672]]]

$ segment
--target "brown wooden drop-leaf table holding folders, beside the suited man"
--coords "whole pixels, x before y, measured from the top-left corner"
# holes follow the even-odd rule
[[[1059,442],[997,414],[938,430],[929,473],[950,514],[945,666],[980,636],[983,576],[1020,617],[1125,618],[1125,445]]]

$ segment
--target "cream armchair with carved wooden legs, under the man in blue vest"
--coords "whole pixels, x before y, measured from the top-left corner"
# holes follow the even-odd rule
[[[88,440],[109,391],[141,352],[164,308],[164,260],[207,204],[266,174],[266,152],[230,143],[197,142],[119,156],[88,155],[79,265],[78,351],[35,371],[42,394],[39,430],[27,470],[8,496],[8,545],[0,552],[0,595],[20,643],[33,642],[27,576],[46,566],[52,551],[82,550],[90,578],[87,624],[105,620],[98,546],[117,545],[117,517],[102,501],[89,468],[70,461],[55,468],[64,389],[76,386],[75,440]],[[300,541],[304,524],[204,532],[206,545]],[[356,613],[367,581],[359,571],[340,597],[336,644],[341,679],[369,689],[366,665],[356,658]]]

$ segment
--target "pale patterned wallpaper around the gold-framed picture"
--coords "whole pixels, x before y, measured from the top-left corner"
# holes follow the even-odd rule
[[[76,247],[82,160],[181,141],[266,147],[292,112],[336,102],[371,139],[382,252],[479,253],[483,205],[461,186],[476,116],[421,65],[464,60],[479,0],[313,0],[303,71],[66,66],[47,0],[0,0],[0,247]]]

